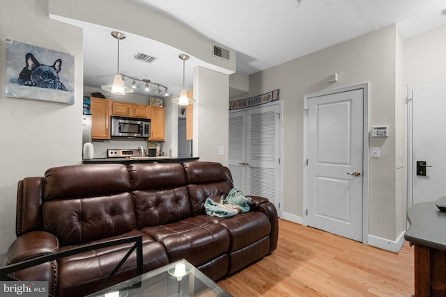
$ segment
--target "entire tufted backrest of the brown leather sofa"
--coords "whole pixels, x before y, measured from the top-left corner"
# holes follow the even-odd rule
[[[17,188],[17,236],[45,230],[61,246],[204,214],[204,202],[232,188],[220,163],[83,164],[50,168]]]

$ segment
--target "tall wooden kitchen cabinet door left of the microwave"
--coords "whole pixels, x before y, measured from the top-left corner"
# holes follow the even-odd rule
[[[91,138],[110,139],[110,101],[95,97],[90,101]]]

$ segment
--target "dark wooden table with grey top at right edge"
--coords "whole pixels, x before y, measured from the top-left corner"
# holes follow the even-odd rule
[[[446,296],[446,196],[413,205],[404,238],[415,244],[415,297]]]

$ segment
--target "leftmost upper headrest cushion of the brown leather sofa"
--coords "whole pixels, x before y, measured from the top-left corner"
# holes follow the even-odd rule
[[[83,164],[50,168],[45,172],[43,199],[67,200],[130,191],[123,164]]]

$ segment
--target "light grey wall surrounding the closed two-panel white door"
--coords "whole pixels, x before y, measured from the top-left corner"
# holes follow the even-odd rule
[[[396,26],[388,26],[316,51],[268,70],[252,74],[249,94],[243,99],[280,89],[283,102],[283,216],[301,217],[303,206],[303,123],[306,94],[370,83],[369,125],[389,125],[390,137],[369,138],[380,147],[381,157],[369,160],[369,235],[396,241],[401,234],[397,224],[395,170],[395,83],[397,49]],[[339,81],[329,83],[337,72]],[[398,213],[401,216],[400,213]],[[397,227],[399,230],[397,230]]]

